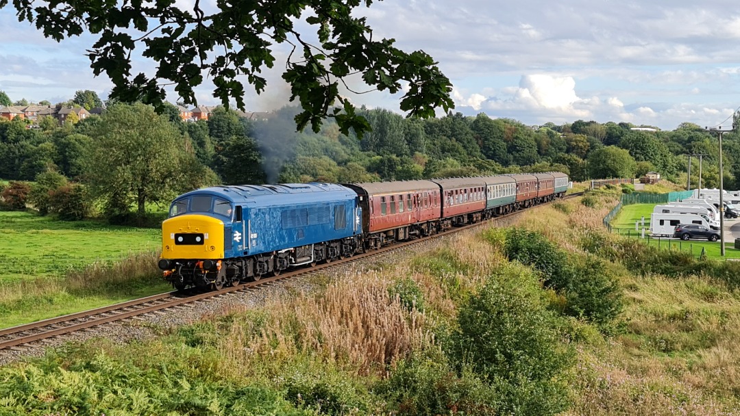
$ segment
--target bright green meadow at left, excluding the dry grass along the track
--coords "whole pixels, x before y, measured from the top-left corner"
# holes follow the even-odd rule
[[[71,268],[154,251],[161,231],[58,221],[27,212],[0,212],[0,283],[64,276]]]

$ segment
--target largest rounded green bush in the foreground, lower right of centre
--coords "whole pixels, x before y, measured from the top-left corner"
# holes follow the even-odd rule
[[[554,415],[570,402],[565,374],[573,352],[560,344],[558,318],[546,309],[534,276],[510,270],[462,305],[451,355],[488,381],[496,414]]]

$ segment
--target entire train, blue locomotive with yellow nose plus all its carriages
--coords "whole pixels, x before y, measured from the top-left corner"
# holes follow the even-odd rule
[[[560,172],[203,188],[170,205],[158,266],[178,290],[221,290],[528,208],[567,189]]]

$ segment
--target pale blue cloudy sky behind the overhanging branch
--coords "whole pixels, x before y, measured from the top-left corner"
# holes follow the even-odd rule
[[[193,3],[175,1],[184,9]],[[214,4],[201,0],[201,7]],[[453,111],[464,115],[672,130],[684,122],[730,126],[740,107],[734,1],[385,0],[355,15],[367,18],[374,38],[394,38],[400,49],[423,50],[438,61],[453,84]],[[112,84],[104,75],[95,78],[84,56],[94,42],[83,35],[58,44],[19,23],[12,5],[0,9],[0,90],[34,102],[70,100],[78,89],[106,98]],[[284,62],[286,51],[275,55]],[[153,63],[135,59],[135,70],[153,73]],[[247,111],[287,103],[280,72],[263,75],[268,88],[262,95],[248,89]],[[353,90],[367,89],[359,79],[348,82]],[[401,94],[346,95],[357,106],[400,112]],[[196,97],[201,105],[220,103],[207,82]]]

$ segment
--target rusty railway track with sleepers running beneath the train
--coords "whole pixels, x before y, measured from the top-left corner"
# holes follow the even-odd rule
[[[570,194],[566,196],[565,199],[579,197],[582,194],[582,192],[577,194]],[[496,218],[489,221],[497,221],[499,219],[509,218],[511,216],[521,214],[522,212],[525,211],[515,211],[511,214],[497,216]],[[184,292],[162,293],[160,295],[148,296],[146,298],[135,299],[119,304],[112,304],[107,307],[99,307],[93,310],[87,310],[84,312],[73,313],[65,316],[58,316],[56,318],[45,319],[44,321],[37,321],[30,324],[23,324],[17,327],[6,328],[4,330],[0,330],[0,351],[23,351],[28,348],[34,348],[46,344],[48,340],[50,340],[50,338],[57,338],[70,333],[89,330],[90,328],[97,327],[98,325],[108,324],[115,321],[125,321],[149,313],[158,313],[164,310],[172,310],[177,307],[186,307],[185,305],[194,304],[195,302],[208,301],[208,299],[214,299],[219,296],[229,296],[230,293],[258,290],[260,287],[272,285],[278,280],[292,279],[297,276],[306,276],[308,274],[316,273],[319,270],[323,270],[326,267],[334,267],[335,265],[356,261],[357,259],[366,259],[373,256],[383,256],[388,253],[393,253],[397,250],[402,250],[404,248],[407,248],[408,246],[419,244],[420,242],[428,242],[430,239],[447,236],[451,233],[457,233],[459,231],[469,230],[471,228],[477,228],[482,225],[488,224],[489,221],[477,222],[471,225],[457,227],[443,233],[434,234],[433,236],[429,236],[425,239],[414,239],[408,242],[400,242],[394,245],[388,245],[384,248],[380,248],[380,250],[373,250],[367,253],[357,254],[346,259],[324,263],[315,267],[298,268],[296,270],[291,270],[288,273],[282,273],[280,274],[280,276],[272,276],[266,279],[263,278],[258,280],[257,282],[247,282],[243,284],[238,284],[234,287],[226,287],[223,290],[219,290],[218,292],[198,292],[196,290],[186,290]]]

